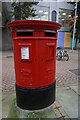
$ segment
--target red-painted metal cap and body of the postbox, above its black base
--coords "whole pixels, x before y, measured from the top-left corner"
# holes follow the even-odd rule
[[[16,84],[24,88],[40,88],[55,81],[57,29],[60,24],[39,20],[17,20],[12,27]],[[33,35],[17,34],[17,30],[33,30]],[[46,36],[45,30],[53,30]],[[21,58],[21,48],[27,47],[29,59]]]

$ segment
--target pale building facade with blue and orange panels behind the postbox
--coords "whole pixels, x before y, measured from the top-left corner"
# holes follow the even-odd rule
[[[10,10],[11,3],[5,3],[5,5],[7,6],[6,8]],[[72,48],[69,20],[71,12],[74,10],[74,6],[61,0],[40,0],[39,3],[33,7],[36,9],[36,16],[29,17],[28,19],[59,22],[61,24],[61,29],[58,31],[57,47]],[[5,32],[6,30],[3,31]],[[8,30],[6,34],[8,34],[8,36],[10,35]],[[12,49],[12,42],[10,41],[11,38],[8,37],[6,40],[6,37],[3,35],[3,50]]]

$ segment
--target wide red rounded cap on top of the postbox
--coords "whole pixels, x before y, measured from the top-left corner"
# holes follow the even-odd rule
[[[61,25],[57,22],[43,21],[43,20],[15,20],[8,22],[8,27],[12,29],[60,29]]]

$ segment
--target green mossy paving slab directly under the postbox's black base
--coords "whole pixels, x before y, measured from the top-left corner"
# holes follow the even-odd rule
[[[56,116],[52,106],[41,111],[25,111],[18,109],[13,103],[8,118],[56,118]]]

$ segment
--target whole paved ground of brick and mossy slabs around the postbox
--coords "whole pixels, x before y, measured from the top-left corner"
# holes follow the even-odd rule
[[[15,74],[12,52],[2,54],[2,117],[78,118],[79,51],[67,50],[69,61],[56,61],[56,101],[42,111],[21,111],[15,102]],[[1,57],[0,57],[1,60]],[[1,86],[0,86],[1,88]],[[1,99],[0,99],[1,100]],[[24,113],[24,114],[23,114]]]

